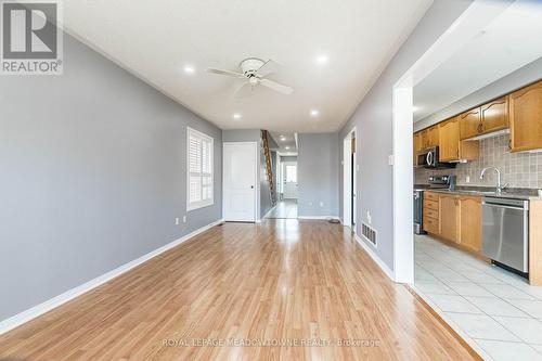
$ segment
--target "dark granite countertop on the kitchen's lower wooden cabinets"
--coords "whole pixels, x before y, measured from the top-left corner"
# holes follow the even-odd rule
[[[438,193],[447,194],[462,194],[462,195],[479,195],[488,197],[500,197],[500,198],[514,198],[514,199],[527,199],[527,201],[539,201],[542,196],[539,195],[535,189],[525,189],[525,188],[511,188],[505,189],[502,193],[495,193],[495,189],[492,186],[463,186],[457,185],[455,190],[450,191],[448,189],[430,188],[429,184],[415,184],[415,191],[431,191]]]

